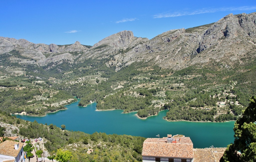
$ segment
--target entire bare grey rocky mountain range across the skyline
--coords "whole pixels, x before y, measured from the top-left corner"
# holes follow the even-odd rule
[[[151,40],[121,31],[91,48],[72,45],[34,44],[25,39],[0,37],[0,58],[19,64],[50,69],[61,63],[79,64],[84,59],[108,58],[106,64],[119,70],[133,62],[150,62],[163,68],[182,69],[197,63],[223,61],[227,66],[255,57],[256,13],[229,14],[216,23],[188,29],[175,29]],[[11,55],[11,51],[17,55]],[[9,53],[9,54],[8,54]]]

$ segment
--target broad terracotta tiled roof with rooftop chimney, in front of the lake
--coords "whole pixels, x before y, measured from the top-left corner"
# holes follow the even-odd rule
[[[167,143],[166,140],[167,137],[147,138],[142,156],[193,158],[193,143],[189,137],[176,138],[177,143]]]

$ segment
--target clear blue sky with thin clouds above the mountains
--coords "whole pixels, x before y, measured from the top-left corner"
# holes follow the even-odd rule
[[[0,0],[0,36],[34,43],[93,45],[122,30],[153,37],[171,29],[256,12],[256,1],[14,1]]]

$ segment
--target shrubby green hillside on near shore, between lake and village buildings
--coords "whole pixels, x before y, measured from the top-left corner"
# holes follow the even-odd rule
[[[107,158],[111,161],[142,161],[142,146],[146,139],[144,137],[107,135],[98,132],[91,135],[79,131],[70,132],[53,124],[43,125],[36,121],[24,121],[1,111],[0,118],[5,123],[17,126],[20,129],[20,136],[30,139],[42,137],[44,146],[51,155],[56,154],[58,149],[69,150],[72,153],[71,161],[73,162],[103,161]],[[20,124],[17,124],[18,120]],[[89,148],[94,150],[91,154],[86,153]]]

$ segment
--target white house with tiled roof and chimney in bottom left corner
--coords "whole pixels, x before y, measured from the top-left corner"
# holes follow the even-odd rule
[[[0,162],[22,162],[23,159],[23,143],[10,140],[0,143]]]

